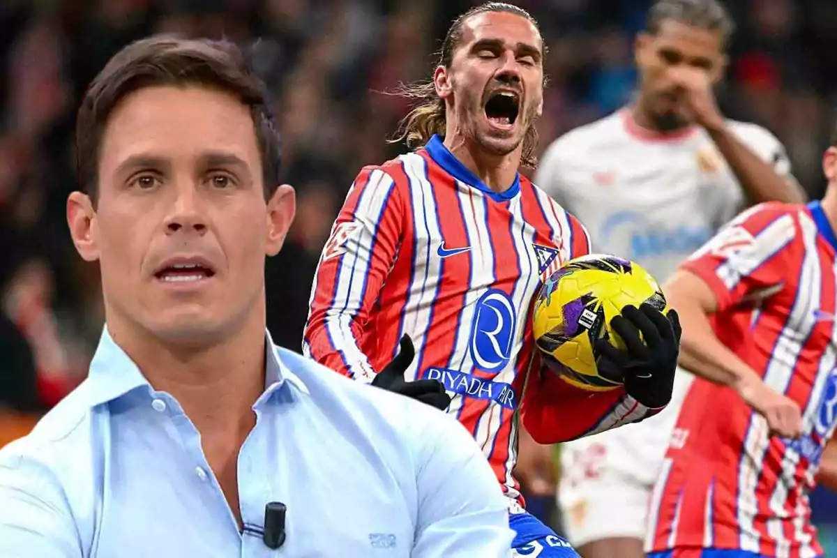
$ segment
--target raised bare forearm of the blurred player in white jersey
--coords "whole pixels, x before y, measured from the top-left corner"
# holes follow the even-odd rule
[[[798,182],[779,175],[773,166],[744,145],[728,125],[707,131],[751,202],[805,202],[805,193]]]

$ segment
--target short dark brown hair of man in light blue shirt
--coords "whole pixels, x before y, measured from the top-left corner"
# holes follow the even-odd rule
[[[279,187],[280,135],[264,83],[247,54],[226,40],[154,35],[129,44],[93,79],[75,125],[75,157],[81,190],[98,196],[102,135],[122,99],[146,87],[198,86],[235,95],[249,107],[261,152],[264,196]],[[212,115],[207,115],[212,118]]]

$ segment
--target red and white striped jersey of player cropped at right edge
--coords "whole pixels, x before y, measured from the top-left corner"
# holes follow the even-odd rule
[[[697,379],[651,500],[650,550],[822,555],[809,492],[837,424],[837,238],[818,202],[742,213],[685,269],[716,295],[727,347],[803,411],[803,436],[771,438],[730,387]]]

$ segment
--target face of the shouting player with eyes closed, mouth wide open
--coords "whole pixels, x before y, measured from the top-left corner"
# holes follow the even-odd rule
[[[526,18],[480,13],[463,24],[450,67],[434,75],[456,130],[492,155],[515,151],[543,105],[543,44]]]

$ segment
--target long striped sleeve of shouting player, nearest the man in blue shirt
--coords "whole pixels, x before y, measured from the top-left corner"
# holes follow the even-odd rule
[[[311,290],[302,350],[341,374],[372,381],[364,325],[395,261],[404,203],[379,166],[358,174],[326,242]]]

